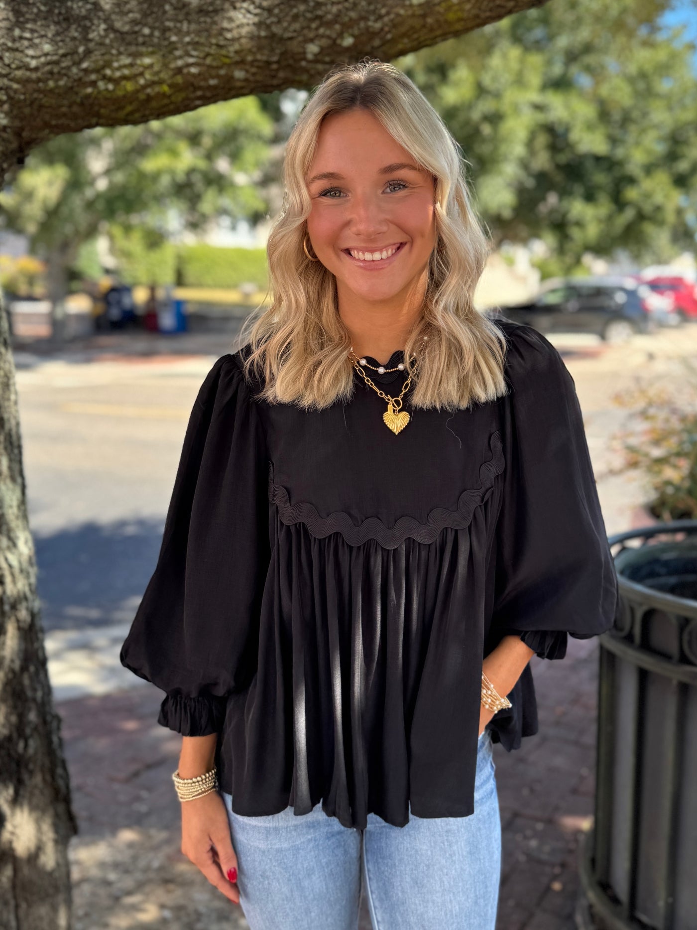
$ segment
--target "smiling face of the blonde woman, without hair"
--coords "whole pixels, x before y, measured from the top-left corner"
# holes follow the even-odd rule
[[[370,301],[406,295],[436,243],[431,174],[356,109],[325,117],[306,180],[309,240],[339,299],[345,290]]]

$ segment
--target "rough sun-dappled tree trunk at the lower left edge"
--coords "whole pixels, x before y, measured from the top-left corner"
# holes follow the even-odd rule
[[[0,293],[0,906],[7,930],[67,930],[67,846],[77,832],[46,668]]]

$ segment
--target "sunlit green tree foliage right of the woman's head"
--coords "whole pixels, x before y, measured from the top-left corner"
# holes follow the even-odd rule
[[[537,236],[569,267],[694,248],[694,46],[659,26],[667,6],[552,2],[395,62],[461,144],[495,242]]]

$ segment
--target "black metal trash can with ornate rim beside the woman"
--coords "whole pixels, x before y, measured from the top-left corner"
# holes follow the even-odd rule
[[[697,930],[697,520],[609,542],[622,610],[599,637],[585,898],[596,926]]]

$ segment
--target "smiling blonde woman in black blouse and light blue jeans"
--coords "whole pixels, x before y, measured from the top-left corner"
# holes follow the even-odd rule
[[[182,851],[252,930],[493,930],[492,744],[534,655],[612,626],[572,378],[475,312],[459,150],[394,67],[288,141],[273,303],[204,380],[121,653],[182,735]]]

